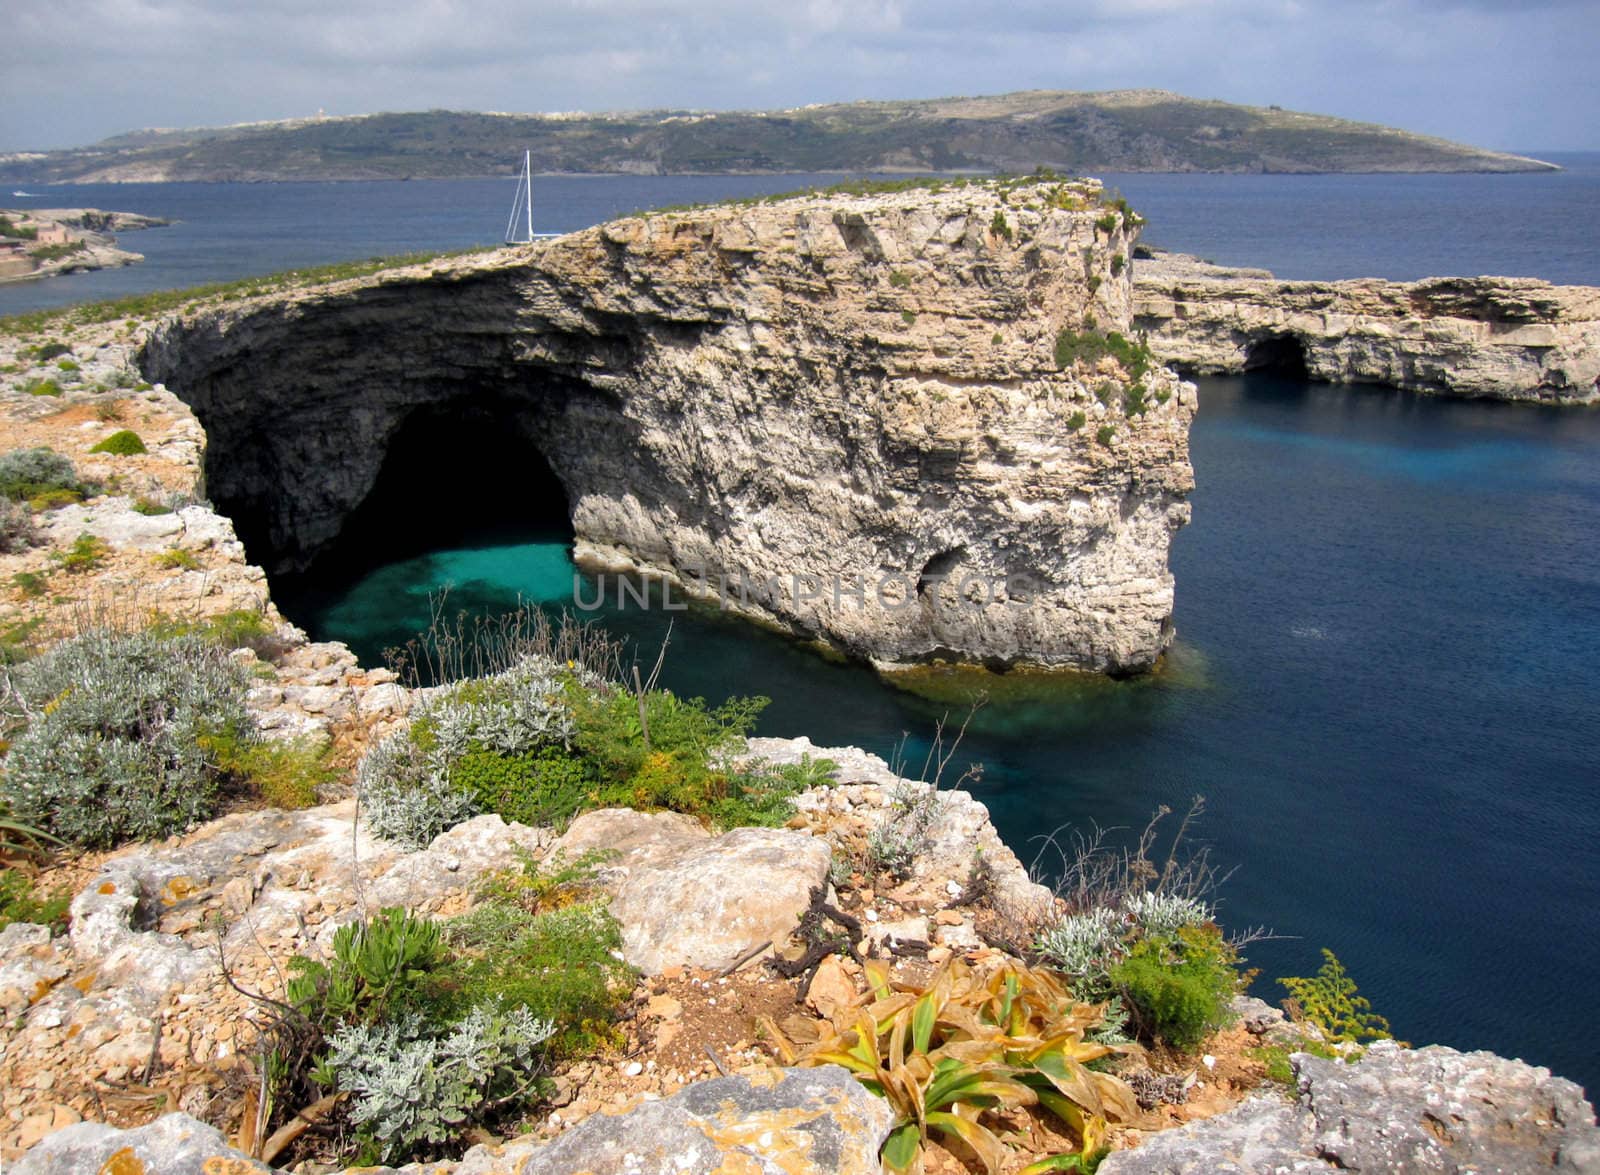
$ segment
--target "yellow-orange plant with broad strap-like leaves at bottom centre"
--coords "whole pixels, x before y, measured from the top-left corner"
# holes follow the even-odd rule
[[[930,1133],[963,1146],[990,1173],[1011,1157],[998,1114],[1038,1106],[1054,1114],[1078,1151],[1032,1170],[1088,1170],[1109,1121],[1138,1114],[1118,1077],[1088,1066],[1122,1047],[1086,1039],[1102,1010],[1072,999],[1045,970],[1006,960],[978,972],[952,959],[925,986],[896,983],[867,962],[869,993],[835,1013],[803,1055],[771,1021],[763,1028],[784,1060],[842,1065],[894,1108],[883,1143],[893,1172],[918,1172]]]

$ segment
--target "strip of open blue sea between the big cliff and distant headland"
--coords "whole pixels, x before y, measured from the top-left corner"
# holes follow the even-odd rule
[[[1107,174],[1150,221],[1146,239],[1282,277],[1515,274],[1600,285],[1600,154],[1515,176]],[[550,176],[534,227],[568,232],[669,203],[789,192],[842,176]],[[117,208],[179,221],[122,235],[128,269],[0,285],[0,314],[120,298],[294,266],[493,245],[515,182],[54,184],[0,207]]]

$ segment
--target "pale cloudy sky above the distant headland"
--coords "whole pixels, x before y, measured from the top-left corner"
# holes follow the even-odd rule
[[[376,110],[1158,88],[1600,149],[1595,0],[5,0],[0,150]]]

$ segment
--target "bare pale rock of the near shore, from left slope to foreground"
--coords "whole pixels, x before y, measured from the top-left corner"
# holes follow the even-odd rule
[[[48,443],[112,487],[38,514],[35,544],[0,555],[0,583],[11,586],[0,628],[8,640],[46,645],[85,616],[253,613],[274,639],[266,656],[235,653],[256,677],[248,698],[256,724],[269,738],[328,740],[349,767],[408,722],[418,695],[342,645],[310,642],[285,624],[232,522],[197,496],[208,442],[198,419],[166,387],[142,386],[142,330],[107,322],[56,331],[72,357],[70,371],[59,368],[66,355],[43,360],[59,395],[29,391],[42,368],[22,349],[37,341],[0,339],[0,362],[18,368],[0,384],[0,450]],[[142,453],[94,451],[123,429],[138,431]],[[69,563],[83,536],[99,554]],[[262,1005],[230,985],[222,960],[246,991],[280,993],[290,954],[326,949],[368,906],[448,916],[472,903],[478,879],[520,853],[550,860],[603,845],[619,855],[605,888],[622,924],[621,949],[643,976],[624,1044],[555,1074],[554,1113],[534,1135],[397,1170],[664,1173],[693,1154],[696,1170],[878,1172],[890,1125],[883,1103],[840,1069],[784,1068],[757,1029],[760,1015],[826,1018],[859,996],[859,967],[835,957],[802,993],[763,960],[794,954],[789,936],[819,885],[835,898],[850,890],[840,901],[859,922],[862,954],[922,967],[1008,957],[1010,924],[1051,911],[1054,898],[968,792],[902,780],[864,751],[803,738],[750,740],[746,752],[835,767],[827,786],[795,800],[781,829],[714,836],[685,816],[606,808],[560,836],[477,816],[403,850],[371,836],[341,784],[315,807],[245,807],[181,837],[62,863],[54,880],[74,893],[67,933],[26,924],[0,932],[0,1161],[32,1175],[107,1164],[267,1170],[210,1124],[226,1122],[243,1097],[242,1057],[262,1025]],[[837,858],[859,853],[915,802],[938,816],[902,882],[835,879]],[[982,901],[968,893],[976,860],[992,877]],[[1600,1170],[1592,1108],[1546,1069],[1488,1053],[1374,1045],[1357,1065],[1296,1052],[1290,1084],[1272,1084],[1250,1050],[1299,1049],[1307,1039],[1259,1001],[1235,1010],[1232,1037],[1208,1045],[1210,1065],[1194,1066],[1189,1105],[1157,1100],[1120,1129],[1107,1175]],[[938,1162],[941,1175],[965,1170],[942,1151]]]

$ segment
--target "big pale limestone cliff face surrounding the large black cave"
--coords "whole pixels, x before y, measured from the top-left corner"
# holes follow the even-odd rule
[[[1171,639],[1195,402],[1155,370],[1125,416],[1114,360],[1054,362],[1062,328],[1131,323],[1134,229],[1098,197],[622,219],[173,322],[142,365],[269,570],[333,543],[402,431],[477,416],[549,461],[590,567],[886,666],[1139,671]]]

